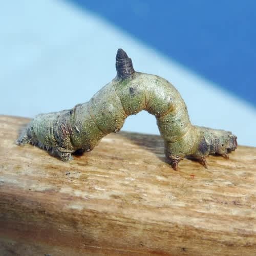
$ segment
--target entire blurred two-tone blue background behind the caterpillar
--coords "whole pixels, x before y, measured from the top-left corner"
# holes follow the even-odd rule
[[[0,114],[33,117],[88,101],[124,49],[172,82],[191,122],[256,146],[256,2],[1,1]],[[124,131],[159,134],[146,112]]]

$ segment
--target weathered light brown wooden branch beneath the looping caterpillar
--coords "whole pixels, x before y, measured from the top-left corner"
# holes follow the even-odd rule
[[[256,148],[175,171],[121,132],[65,163],[15,144],[28,121],[0,116],[0,255],[255,255]]]

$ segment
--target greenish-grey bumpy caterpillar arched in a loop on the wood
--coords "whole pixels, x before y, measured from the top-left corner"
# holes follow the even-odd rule
[[[179,92],[167,80],[135,72],[132,60],[119,49],[117,76],[89,102],[71,110],[37,115],[17,140],[32,143],[62,161],[71,154],[91,151],[105,135],[118,132],[127,116],[146,110],[157,119],[165,155],[176,170],[184,157],[197,159],[207,168],[206,156],[236,150],[237,137],[230,132],[192,125]]]

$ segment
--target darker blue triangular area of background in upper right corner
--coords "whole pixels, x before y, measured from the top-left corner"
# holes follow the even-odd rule
[[[70,1],[256,107],[256,1]]]

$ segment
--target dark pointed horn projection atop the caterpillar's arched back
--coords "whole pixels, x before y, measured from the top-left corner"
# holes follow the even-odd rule
[[[116,71],[117,76],[121,79],[129,78],[135,72],[132,59],[127,56],[123,49],[118,49],[116,54]]]

